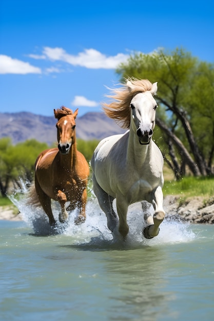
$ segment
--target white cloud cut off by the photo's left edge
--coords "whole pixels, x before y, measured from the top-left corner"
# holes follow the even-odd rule
[[[40,68],[31,66],[29,63],[13,59],[6,55],[0,55],[0,74],[28,74],[42,73]]]

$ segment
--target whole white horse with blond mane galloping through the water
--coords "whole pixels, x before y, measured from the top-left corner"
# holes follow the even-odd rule
[[[142,202],[147,226],[146,238],[159,234],[165,212],[163,209],[163,156],[151,137],[155,126],[155,110],[158,107],[153,96],[157,83],[129,78],[117,90],[110,104],[104,104],[105,113],[129,128],[125,134],[103,139],[96,147],[91,166],[93,190],[101,209],[107,216],[107,226],[114,231],[118,218],[112,202],[116,199],[119,216],[119,232],[125,239],[129,227],[127,211],[130,204]],[[148,210],[154,207],[154,214]]]

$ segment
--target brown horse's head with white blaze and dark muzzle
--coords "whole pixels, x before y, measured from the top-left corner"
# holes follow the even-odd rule
[[[54,109],[55,118],[58,119],[56,123],[58,148],[63,155],[69,153],[71,145],[75,142],[75,118],[77,113],[78,109],[73,113],[71,109],[64,106],[61,109]]]

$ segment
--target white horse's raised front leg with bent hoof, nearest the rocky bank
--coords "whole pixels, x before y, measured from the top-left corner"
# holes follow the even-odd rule
[[[144,229],[143,234],[146,238],[152,238],[159,234],[159,226],[163,222],[165,217],[165,211],[163,209],[163,192],[160,186],[158,186],[157,189],[154,191],[152,204],[155,211],[153,215],[154,224],[149,225]]]

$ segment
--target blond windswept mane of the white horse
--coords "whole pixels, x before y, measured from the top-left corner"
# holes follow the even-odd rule
[[[130,103],[133,96],[138,92],[151,91],[152,83],[147,79],[137,79],[130,77],[125,81],[131,82],[131,88],[128,88],[126,83],[120,84],[119,89],[110,89],[112,94],[106,95],[108,98],[114,99],[113,102],[103,103],[103,110],[109,118],[115,119],[122,128],[130,127]]]

